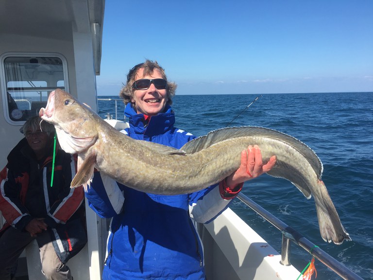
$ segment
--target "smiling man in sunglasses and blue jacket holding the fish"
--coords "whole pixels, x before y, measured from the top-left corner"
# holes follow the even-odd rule
[[[120,91],[130,124],[122,132],[176,149],[193,140],[193,135],[173,126],[170,105],[175,90],[176,84],[167,81],[157,62],[136,65]],[[264,164],[259,147],[250,145],[241,152],[237,171],[203,190],[177,195],[141,192],[95,172],[86,198],[101,217],[113,218],[102,279],[205,279],[195,222],[212,221],[244,181],[270,171],[275,162],[272,156]],[[170,171],[165,176],[172,175]]]

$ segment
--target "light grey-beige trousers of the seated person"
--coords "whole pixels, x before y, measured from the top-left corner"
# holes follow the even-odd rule
[[[11,270],[23,249],[35,239],[30,233],[9,227],[0,237],[0,280],[10,280]],[[54,252],[51,238],[47,231],[36,237],[39,245],[42,272],[48,280],[71,280],[71,272]]]

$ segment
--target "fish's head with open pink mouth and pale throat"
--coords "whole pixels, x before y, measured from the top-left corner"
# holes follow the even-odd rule
[[[69,154],[85,152],[98,139],[97,114],[61,89],[50,93],[39,116],[54,125],[61,148]]]

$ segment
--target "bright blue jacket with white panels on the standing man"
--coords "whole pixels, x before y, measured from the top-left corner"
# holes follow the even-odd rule
[[[170,106],[151,117],[125,108],[131,138],[181,148],[195,137],[173,126]],[[125,160],[125,159],[123,159]],[[207,186],[206,186],[207,187]],[[139,192],[96,172],[85,196],[99,216],[112,217],[104,280],[204,279],[203,249],[195,222],[207,223],[228,206],[219,185],[181,195]]]

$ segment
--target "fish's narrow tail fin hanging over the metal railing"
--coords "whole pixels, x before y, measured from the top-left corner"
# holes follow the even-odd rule
[[[342,244],[343,240],[351,240],[350,235],[340,223],[337,210],[321,180],[318,181],[318,189],[322,193],[322,199],[317,199],[315,195],[314,197],[322,239],[327,242],[333,241],[335,244]]]

